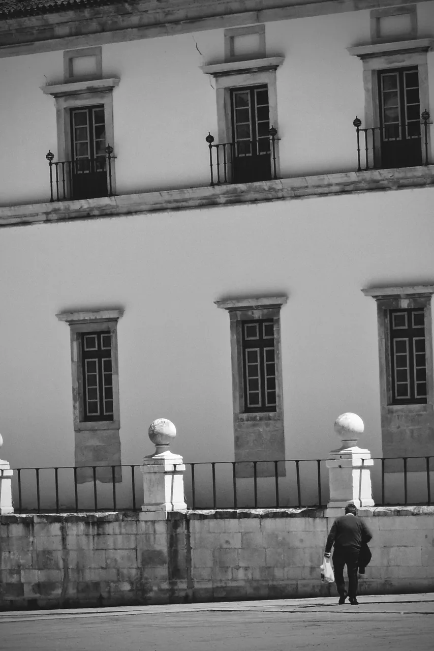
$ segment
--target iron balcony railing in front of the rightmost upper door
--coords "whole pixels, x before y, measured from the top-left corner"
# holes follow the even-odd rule
[[[429,113],[420,120],[392,122],[383,126],[360,128],[362,120],[356,116],[353,125],[357,133],[357,171],[394,169],[429,165]]]

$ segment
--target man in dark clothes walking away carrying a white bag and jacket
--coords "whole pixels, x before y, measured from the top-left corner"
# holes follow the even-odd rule
[[[345,603],[347,594],[349,603],[359,605],[357,601],[357,566],[362,542],[369,542],[372,534],[361,518],[357,517],[357,506],[349,503],[345,508],[345,515],[336,518],[332,524],[327,543],[325,556],[330,557],[332,545],[334,580],[339,592],[340,604]],[[344,566],[347,566],[348,593],[345,589]]]

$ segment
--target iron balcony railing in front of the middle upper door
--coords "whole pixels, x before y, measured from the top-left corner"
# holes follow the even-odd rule
[[[211,186],[223,183],[251,183],[277,178],[277,130],[257,139],[237,140],[233,143],[214,143],[208,133],[210,150]]]

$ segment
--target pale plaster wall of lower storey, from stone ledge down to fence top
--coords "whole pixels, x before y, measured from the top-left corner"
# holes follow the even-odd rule
[[[213,301],[288,294],[286,456],[325,458],[334,419],[364,419],[381,456],[375,301],[365,286],[433,283],[433,189],[2,229],[0,432],[12,465],[72,465],[69,329],[55,314],[122,307],[122,462],[172,420],[187,462],[232,460],[229,319]],[[409,219],[411,215],[411,219]]]

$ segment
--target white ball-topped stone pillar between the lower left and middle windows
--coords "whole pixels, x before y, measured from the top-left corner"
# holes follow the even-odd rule
[[[150,424],[149,437],[156,446],[154,454],[145,456],[143,473],[142,511],[153,519],[166,517],[169,511],[185,511],[183,473],[185,465],[180,454],[173,454],[169,445],[176,436],[174,424],[159,418]]]

